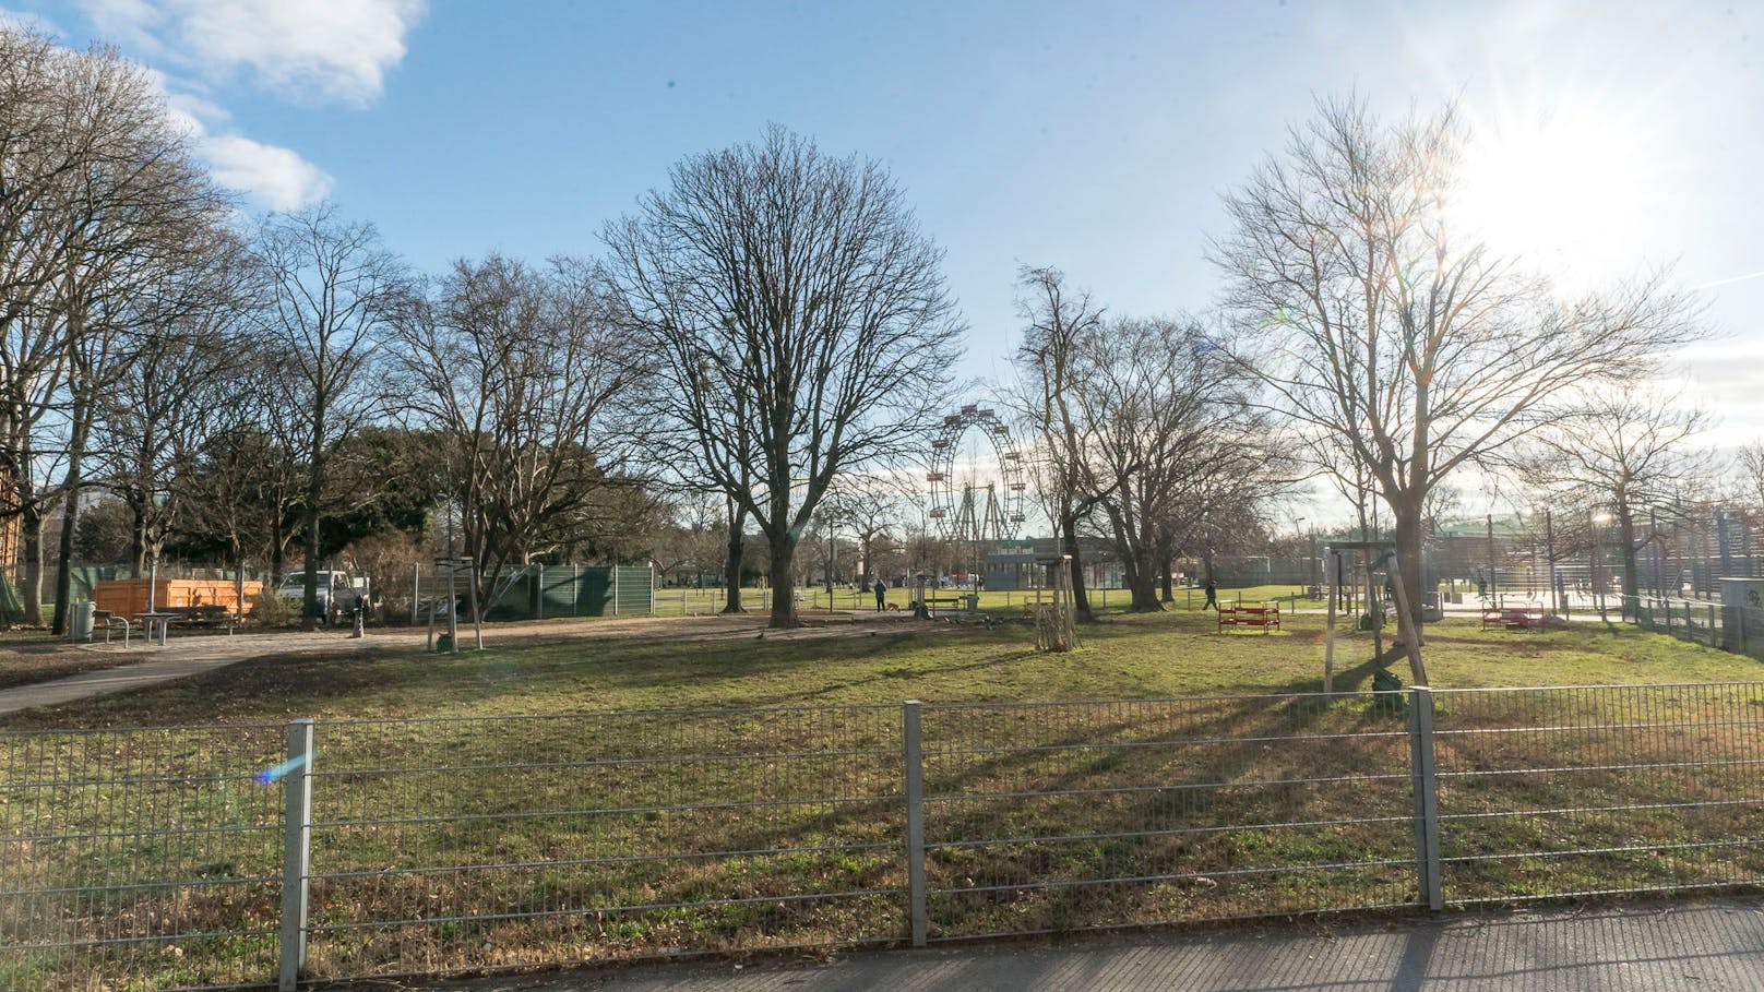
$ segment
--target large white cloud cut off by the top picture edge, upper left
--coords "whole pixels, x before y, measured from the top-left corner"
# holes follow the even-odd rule
[[[296,102],[367,106],[423,0],[79,0],[99,34],[212,76],[252,72]]]

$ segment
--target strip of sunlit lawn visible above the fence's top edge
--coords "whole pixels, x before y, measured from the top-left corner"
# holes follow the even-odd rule
[[[833,623],[811,635],[670,621],[624,637],[524,639],[483,653],[385,651],[243,662],[161,688],[26,711],[11,727],[90,727],[286,720],[291,717],[467,717],[580,710],[716,706],[1159,699],[1316,692],[1323,616],[1286,618],[1275,634],[1217,634],[1210,612],[1108,614],[1069,655],[1037,653],[1027,623]],[[1367,634],[1337,632],[1337,690],[1367,688]],[[1480,630],[1473,620],[1429,628],[1427,669],[1439,688],[1745,681],[1759,662],[1633,627],[1575,625],[1547,634]],[[1404,674],[1399,662],[1397,671]]]

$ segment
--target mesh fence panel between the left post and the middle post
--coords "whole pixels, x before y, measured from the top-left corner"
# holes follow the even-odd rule
[[[900,710],[325,724],[309,967],[893,941]]]

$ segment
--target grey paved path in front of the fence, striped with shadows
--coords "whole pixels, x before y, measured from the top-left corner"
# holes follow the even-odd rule
[[[400,983],[434,992],[1559,992],[1764,988],[1764,900],[1247,925],[1062,948],[864,951],[829,964],[658,964]],[[363,985],[365,988],[365,985]]]

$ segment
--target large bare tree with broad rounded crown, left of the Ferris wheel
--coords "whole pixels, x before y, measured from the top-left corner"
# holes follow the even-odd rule
[[[960,348],[942,252],[880,164],[780,127],[683,161],[605,238],[677,427],[656,443],[753,517],[771,625],[794,627],[792,560],[827,487],[907,457],[942,402]]]

